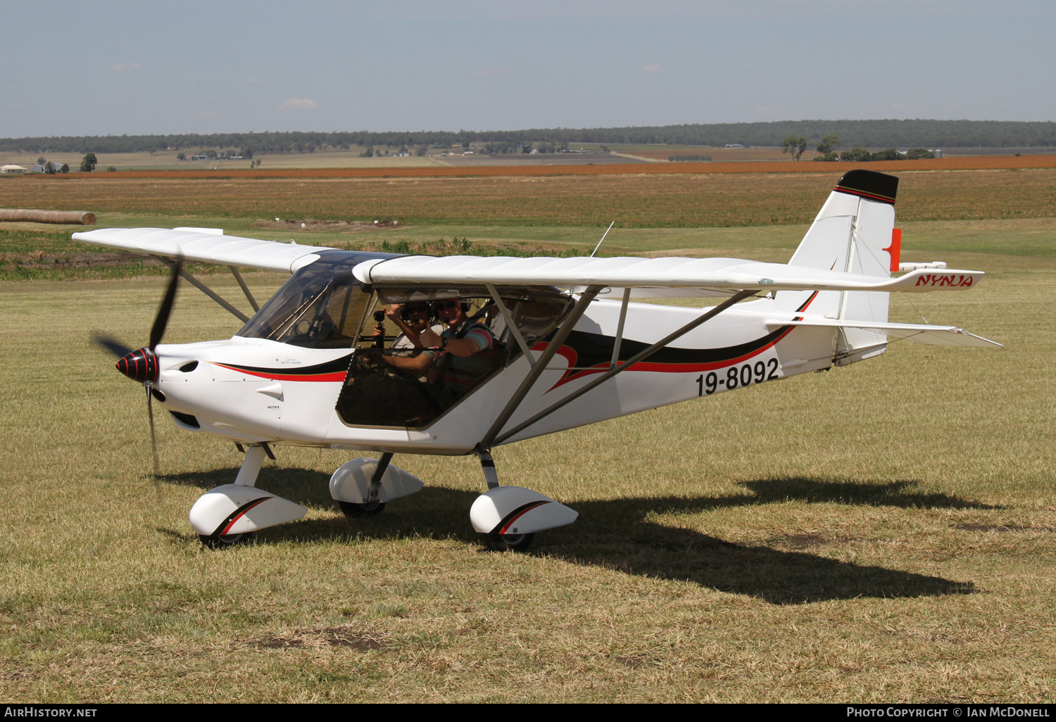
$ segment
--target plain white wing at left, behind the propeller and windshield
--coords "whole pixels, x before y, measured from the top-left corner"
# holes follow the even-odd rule
[[[135,253],[286,273],[316,261],[319,251],[332,250],[325,246],[299,246],[223,235],[216,229],[100,228],[74,233],[72,238]]]

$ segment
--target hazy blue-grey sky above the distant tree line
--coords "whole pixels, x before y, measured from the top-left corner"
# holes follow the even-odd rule
[[[0,137],[1056,119],[1052,0],[0,0]]]

